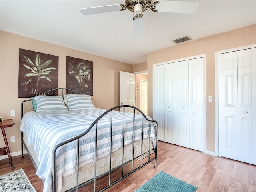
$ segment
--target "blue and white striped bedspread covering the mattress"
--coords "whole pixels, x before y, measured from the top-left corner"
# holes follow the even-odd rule
[[[22,118],[20,130],[25,132],[28,143],[34,147],[40,162],[36,174],[45,180],[44,191],[52,187],[52,151],[54,146],[85,132],[88,127],[106,110],[87,109],[64,112],[27,112]],[[122,146],[123,113],[113,111],[112,149],[114,152]],[[148,117],[148,119],[151,119]],[[155,138],[155,127],[143,121],[143,138]],[[142,115],[135,116],[134,140],[141,139]],[[133,114],[125,114],[124,145],[133,140]],[[110,151],[110,113],[98,122],[97,158],[109,155]],[[155,139],[153,140],[155,143]],[[79,165],[84,166],[94,161],[95,126],[80,139]],[[77,142],[68,143],[56,152],[56,176],[61,180],[65,174],[71,174],[76,168]]]

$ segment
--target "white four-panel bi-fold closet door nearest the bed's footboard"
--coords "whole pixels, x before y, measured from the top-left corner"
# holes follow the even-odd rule
[[[204,150],[203,58],[154,66],[158,140]]]

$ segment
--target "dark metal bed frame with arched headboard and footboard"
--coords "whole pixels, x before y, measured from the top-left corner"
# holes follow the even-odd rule
[[[47,92],[45,92],[43,95],[47,95],[47,94],[49,94],[49,92],[51,92],[51,91],[53,91],[53,95],[56,95],[55,94],[55,91],[58,91],[58,90],[62,90],[62,96],[64,95],[64,90],[66,90],[66,92],[70,92],[70,93],[73,93],[73,94],[78,94],[76,91],[74,91],[74,90],[71,90],[71,89],[67,89],[67,88],[55,88],[55,89],[53,89],[53,90],[49,90],[49,91],[47,91]],[[58,95],[58,92],[57,92],[57,95]],[[23,102],[22,102],[22,117],[23,117],[23,105],[24,105],[24,102],[27,102],[27,101],[31,101],[32,99],[29,99],[29,100],[24,100]],[[122,109],[121,109],[122,108]],[[125,111],[126,111],[126,109],[127,108],[132,108],[132,110],[133,110],[133,141],[132,141],[132,160],[129,160],[129,161],[127,161],[127,162],[124,162],[124,119],[125,119]],[[111,168],[111,157],[112,157],[112,154],[111,154],[111,143],[112,143],[112,117],[113,117],[113,111],[114,110],[122,110],[122,120],[123,120],[123,124],[122,124],[122,129],[123,129],[123,131],[122,131],[122,146],[121,146],[121,150],[122,150],[122,162],[121,162],[121,164],[119,165],[119,166],[117,166],[116,168]],[[138,157],[136,157],[136,158],[134,158],[134,130],[135,130],[135,114],[136,114],[136,112],[139,112],[140,114],[142,114],[142,122],[144,121],[144,120],[146,120],[146,121],[148,121],[150,124],[153,124],[153,126],[155,127],[155,131],[156,131],[156,145],[155,145],[155,148],[153,149],[154,150],[154,154],[152,154],[152,155],[148,155],[148,160],[146,161],[146,162],[142,162],[142,155],[143,155],[143,142],[142,142],[142,140],[143,140],[143,131],[142,131],[142,135],[141,135],[141,140],[140,140],[140,142],[141,142],[141,148],[140,148],[140,156],[138,156],[138,157],[140,157],[141,158],[141,160],[140,160],[140,166],[138,166],[137,168],[134,168],[134,159],[136,159],[136,158],[138,158]],[[55,147],[54,147],[54,150],[52,151],[52,191],[53,192],[56,192],[56,172],[55,172],[55,170],[56,170],[56,150],[60,147],[60,146],[63,146],[63,145],[65,145],[65,144],[67,144],[67,143],[69,143],[69,142],[72,142],[72,141],[77,141],[77,159],[76,159],[76,163],[77,163],[77,166],[76,166],[76,170],[79,170],[79,142],[80,142],[80,138],[81,137],[83,137],[84,135],[86,135],[94,126],[95,126],[95,128],[96,128],[96,135],[95,135],[95,138],[97,138],[97,128],[98,128],[98,121],[101,119],[101,118],[103,118],[105,115],[107,115],[107,114],[109,114],[110,113],[110,129],[111,129],[111,131],[110,131],[110,155],[109,155],[109,171],[108,172],[106,172],[106,173],[104,173],[104,174],[101,174],[101,175],[99,175],[99,176],[96,176],[96,170],[97,170],[97,139],[95,139],[96,140],[96,144],[95,144],[95,157],[94,157],[94,178],[93,179],[91,179],[91,180],[88,180],[88,181],[86,181],[86,182],[84,182],[84,183],[82,183],[82,184],[79,184],[79,171],[77,171],[76,172],[76,187],[74,187],[74,188],[71,188],[70,190],[68,190],[68,191],[77,191],[78,192],[78,189],[80,189],[80,188],[82,188],[82,187],[84,187],[84,186],[86,186],[86,185],[88,185],[88,184],[90,184],[90,183],[92,183],[92,182],[94,182],[94,192],[96,192],[96,180],[98,180],[99,178],[102,178],[102,177],[104,177],[104,176],[106,176],[106,175],[109,175],[108,176],[108,185],[107,186],[105,186],[104,188],[102,188],[101,190],[99,190],[100,192],[101,191],[104,191],[104,190],[106,190],[107,188],[109,188],[110,186],[113,186],[114,184],[116,184],[117,182],[119,182],[120,180],[122,180],[122,179],[124,179],[124,178],[126,178],[127,176],[129,176],[130,174],[132,174],[133,172],[135,172],[136,170],[139,170],[140,168],[142,168],[143,166],[146,166],[147,164],[149,164],[150,162],[152,162],[152,161],[155,161],[154,162],[154,168],[156,168],[156,160],[157,160],[157,126],[158,126],[158,124],[157,124],[157,122],[155,121],[155,120],[149,120],[147,117],[146,117],[146,115],[140,110],[140,109],[138,109],[138,108],[136,108],[136,107],[134,107],[134,106],[130,106],[130,105],[122,105],[122,106],[116,106],[116,107],[113,107],[113,108],[111,108],[111,109],[109,109],[109,110],[107,110],[106,112],[104,112],[102,115],[100,115],[91,125],[90,125],[90,127],[84,132],[84,133],[82,133],[82,134],[80,134],[79,136],[76,136],[76,137],[74,137],[74,138],[71,138],[71,139],[69,139],[69,140],[67,140],[67,141],[65,141],[65,142],[62,142],[62,143],[60,143],[60,144],[58,144],[58,145],[56,145]],[[142,123],[142,130],[143,130],[143,123]],[[150,132],[150,129],[149,129],[149,132]],[[150,150],[152,150],[151,149],[151,146],[150,146],[150,136],[148,137],[148,141],[149,141],[149,146],[148,146],[148,150],[147,150],[147,152],[146,153],[148,153],[148,154],[150,154]],[[21,132],[21,149],[22,149],[22,156],[21,156],[21,158],[23,158],[23,145],[24,145],[24,143],[23,143],[23,132]],[[25,147],[26,147],[26,145],[25,145]],[[26,147],[27,148],[27,147]],[[29,154],[29,152],[28,152],[28,154]],[[145,153],[144,153],[145,154]],[[30,154],[29,154],[29,156],[30,156]],[[152,157],[153,156],[153,157]],[[31,158],[31,156],[30,156],[30,158]],[[31,158],[32,159],[32,158]],[[128,163],[132,163],[132,171],[130,171],[130,172],[128,172],[127,174],[124,174],[124,165],[126,165],[126,164],[128,164]],[[33,164],[34,164],[34,162],[33,162]],[[35,164],[34,164],[35,165]],[[114,182],[111,182],[111,174],[112,174],[112,172],[114,171],[114,170],[117,170],[117,169],[121,169],[121,177],[120,178],[118,178],[117,180],[115,180]]]

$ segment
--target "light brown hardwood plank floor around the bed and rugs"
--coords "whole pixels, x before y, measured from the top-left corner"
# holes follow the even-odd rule
[[[188,184],[198,187],[196,192],[256,192],[256,166],[204,154],[165,142],[158,142],[157,168],[154,162],[118,182],[106,192],[131,192],[142,186],[158,172],[164,171]],[[25,154],[12,158],[15,170],[23,168],[34,188],[43,190],[42,181]],[[8,159],[0,161],[0,174],[11,172]],[[82,188],[81,192],[87,192]]]

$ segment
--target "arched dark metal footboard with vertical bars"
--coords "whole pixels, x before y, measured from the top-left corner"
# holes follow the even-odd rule
[[[125,146],[125,142],[124,142],[124,134],[125,134],[125,117],[126,117],[126,109],[127,108],[132,108],[133,110],[133,122],[130,122],[133,124],[133,134],[132,134],[132,142],[130,143],[131,148],[132,148],[132,158],[131,159],[124,159],[124,147]],[[120,110],[122,112],[122,118],[123,118],[123,124],[122,124],[122,145],[121,148],[119,150],[121,150],[121,162],[118,166],[113,167],[112,165],[112,122],[113,122],[113,112],[116,110]],[[104,116],[110,114],[110,137],[109,137],[109,144],[110,144],[110,152],[109,152],[109,165],[108,165],[108,171],[102,173],[99,175],[97,169],[97,164],[98,164],[98,158],[97,158],[97,154],[98,154],[98,148],[100,146],[97,145],[98,140],[97,140],[97,134],[98,134],[98,122],[104,118]],[[141,136],[140,136],[140,140],[136,140],[135,141],[135,134],[136,133],[136,124],[135,124],[135,115],[140,114],[141,115],[141,121],[142,121],[142,131],[141,131]],[[154,130],[150,129],[148,130],[148,132],[144,132],[144,122],[147,122],[148,124],[150,124],[151,127],[153,127]],[[87,180],[85,182],[80,181],[80,174],[79,174],[79,170],[80,170],[80,165],[79,165],[79,158],[80,158],[80,151],[79,151],[79,147],[80,147],[80,140],[83,136],[85,136],[86,134],[88,134],[88,132],[92,129],[95,128],[95,148],[94,148],[94,178]],[[148,134],[148,137],[145,138],[145,135]],[[145,140],[148,143],[148,146],[145,149],[145,145],[144,142]],[[104,191],[107,188],[109,188],[110,186],[113,186],[114,184],[116,184],[117,182],[119,182],[120,180],[126,178],[127,176],[129,176],[130,174],[132,174],[133,172],[135,172],[136,170],[139,170],[140,168],[142,168],[143,166],[149,164],[150,162],[154,161],[154,168],[156,168],[156,160],[157,160],[157,122],[151,119],[148,119],[147,116],[145,114],[143,114],[143,112],[134,107],[134,106],[129,106],[129,105],[123,105],[123,106],[117,106],[114,107],[110,110],[107,110],[106,112],[104,112],[101,116],[99,116],[91,125],[90,127],[83,133],[80,134],[79,136],[76,136],[70,140],[67,140],[66,142],[62,142],[60,144],[58,144],[57,146],[55,146],[53,152],[52,152],[52,191],[56,192],[56,151],[58,150],[58,148],[60,148],[61,146],[70,143],[70,142],[76,142],[77,145],[77,154],[76,154],[76,185],[75,187],[71,188],[68,191],[77,191],[79,188],[85,187],[85,186],[89,186],[90,185],[90,189],[93,188],[93,191]],[[135,142],[140,142],[140,154],[135,154],[134,152],[134,143]],[[153,154],[151,154],[153,151]],[[148,155],[146,158],[144,158],[145,154],[151,154]],[[136,159],[136,158],[140,158],[140,160]],[[130,166],[130,171],[125,171],[125,167]],[[126,169],[127,170],[127,169]],[[119,172],[120,176],[117,178],[115,172]],[[112,179],[112,177],[114,177],[114,180]],[[102,184],[100,184],[101,188],[98,189],[99,187],[97,186],[97,182],[102,179],[105,178],[105,180],[108,180],[108,184],[106,184],[106,186],[104,186],[102,188]],[[93,187],[92,187],[93,185]],[[86,190],[88,190],[86,188]]]

